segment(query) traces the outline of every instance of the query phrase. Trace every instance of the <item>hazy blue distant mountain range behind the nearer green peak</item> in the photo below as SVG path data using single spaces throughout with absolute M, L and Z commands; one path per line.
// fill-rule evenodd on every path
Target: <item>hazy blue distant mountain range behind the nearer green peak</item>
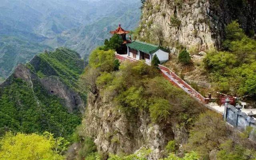
M 0 81 L 18 63 L 59 46 L 87 57 L 122 24 L 138 26 L 140 0 L 1 0 Z

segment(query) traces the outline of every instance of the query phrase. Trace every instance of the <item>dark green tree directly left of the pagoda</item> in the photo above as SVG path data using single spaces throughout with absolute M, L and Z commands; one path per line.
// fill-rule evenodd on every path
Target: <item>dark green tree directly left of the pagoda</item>
M 114 34 L 109 40 L 105 40 L 104 50 L 120 50 L 124 40 L 118 35 Z

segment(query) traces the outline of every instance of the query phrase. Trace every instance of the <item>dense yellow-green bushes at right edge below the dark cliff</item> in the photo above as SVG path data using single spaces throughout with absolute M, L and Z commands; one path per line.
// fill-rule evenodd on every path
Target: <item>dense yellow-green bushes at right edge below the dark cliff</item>
M 248 38 L 238 22 L 226 27 L 223 52 L 208 52 L 204 64 L 216 90 L 244 96 L 256 94 L 256 41 Z

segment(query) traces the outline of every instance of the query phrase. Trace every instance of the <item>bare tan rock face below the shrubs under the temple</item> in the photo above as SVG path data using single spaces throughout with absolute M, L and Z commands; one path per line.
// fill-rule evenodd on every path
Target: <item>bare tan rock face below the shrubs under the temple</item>
M 114 104 L 93 95 L 88 97 L 83 123 L 86 134 L 95 138 L 98 151 L 105 154 L 132 154 L 144 147 L 152 150 L 149 160 L 158 160 L 168 141 L 175 139 L 184 144 L 188 138 L 186 130 L 176 128 L 172 122 L 163 126 L 152 124 L 146 112 L 125 115 Z

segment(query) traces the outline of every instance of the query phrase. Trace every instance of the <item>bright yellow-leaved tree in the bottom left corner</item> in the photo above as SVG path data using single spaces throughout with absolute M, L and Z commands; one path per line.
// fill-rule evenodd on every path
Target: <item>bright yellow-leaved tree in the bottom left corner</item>
M 0 160 L 64 160 L 51 134 L 6 133 L 0 139 Z

